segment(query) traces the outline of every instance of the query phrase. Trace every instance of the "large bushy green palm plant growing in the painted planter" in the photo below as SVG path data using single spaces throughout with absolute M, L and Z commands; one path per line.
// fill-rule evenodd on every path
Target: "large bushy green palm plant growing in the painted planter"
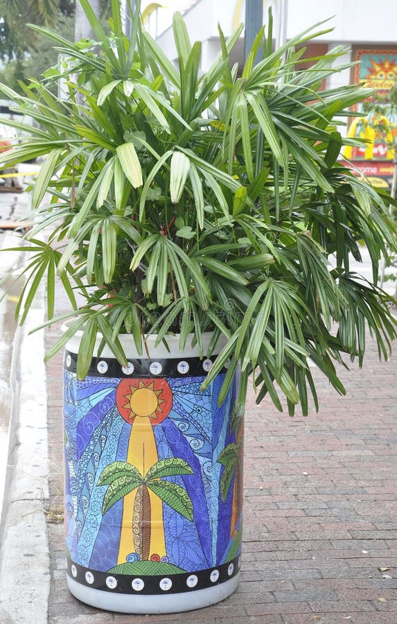
M 228 39 L 220 31 L 220 53 L 200 75 L 200 42 L 191 44 L 179 14 L 175 69 L 141 28 L 139 1 L 129 40 L 117 0 L 112 37 L 81 3 L 99 45 L 82 49 L 36 27 L 69 57 L 67 98 L 48 92 L 56 71 L 24 96 L 1 86 L 39 123 L 3 163 L 46 156 L 24 245 L 20 322 L 41 281 L 53 322 L 58 275 L 73 309 L 48 356 L 82 329 L 80 379 L 97 332 L 124 363 L 120 333 L 132 333 L 139 352 L 148 334 L 161 343 L 179 333 L 184 347 L 193 333 L 203 354 L 202 332 L 211 331 L 209 352 L 220 335 L 225 346 L 204 385 L 229 361 L 220 401 L 240 365 L 240 408 L 254 374 L 258 402 L 270 395 L 281 409 L 281 392 L 291 414 L 299 402 L 306 414 L 310 392 L 317 407 L 308 359 L 343 393 L 335 361 L 346 354 L 361 365 L 366 327 L 384 358 L 396 336 L 391 301 L 375 284 L 380 256 L 389 262 L 397 240 L 389 198 L 337 162 L 351 141 L 337 124 L 369 95 L 353 85 L 321 90 L 348 67 L 333 69 L 343 47 L 297 70 L 304 43 L 325 31 L 317 25 L 272 51 L 270 22 L 239 75 L 230 55 L 240 26 Z M 349 266 L 362 243 L 373 284 Z

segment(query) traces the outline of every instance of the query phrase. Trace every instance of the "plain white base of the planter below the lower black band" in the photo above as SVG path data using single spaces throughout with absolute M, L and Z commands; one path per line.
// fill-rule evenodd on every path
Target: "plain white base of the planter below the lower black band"
M 224 600 L 236 590 L 240 573 L 230 580 L 208 587 L 197 589 L 186 593 L 164 596 L 164 594 L 154 594 L 152 596 L 131 596 L 127 593 L 112 594 L 100 589 L 85 587 L 67 575 L 69 591 L 87 605 L 114 611 L 118 613 L 131 614 L 161 614 L 179 613 L 193 611 L 209 607 Z M 158 598 L 158 599 L 157 599 Z

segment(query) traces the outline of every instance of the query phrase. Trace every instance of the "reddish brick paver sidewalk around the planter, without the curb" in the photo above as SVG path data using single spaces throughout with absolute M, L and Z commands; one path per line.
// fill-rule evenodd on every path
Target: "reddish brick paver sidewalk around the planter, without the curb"
M 46 332 L 46 349 L 58 335 Z M 397 345 L 395 347 L 397 349 Z M 62 504 L 61 356 L 48 363 L 51 624 L 396 624 L 397 352 L 342 372 L 339 397 L 314 370 L 320 411 L 279 414 L 249 394 L 242 577 L 213 607 L 181 615 L 112 614 L 67 590 Z

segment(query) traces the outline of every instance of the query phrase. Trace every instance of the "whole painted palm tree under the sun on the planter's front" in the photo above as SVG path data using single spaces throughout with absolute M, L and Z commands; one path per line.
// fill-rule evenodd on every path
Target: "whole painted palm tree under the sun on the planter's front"
M 129 543 L 131 544 L 133 539 L 134 550 L 140 555 L 141 560 L 148 560 L 150 555 L 152 532 L 150 492 L 188 520 L 193 520 L 193 504 L 186 490 L 177 483 L 164 480 L 165 477 L 182 474 L 193 474 L 193 470 L 181 458 L 160 460 L 150 467 L 145 476 L 129 462 L 122 461 L 112 462 L 100 474 L 98 485 L 109 486 L 103 499 L 103 514 L 114 503 L 136 490 Z

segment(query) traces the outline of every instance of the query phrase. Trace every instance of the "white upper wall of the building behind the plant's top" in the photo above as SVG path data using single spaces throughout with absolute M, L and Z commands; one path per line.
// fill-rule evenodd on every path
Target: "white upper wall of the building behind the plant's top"
M 192 1 L 192 0 L 191 0 Z M 267 8 L 274 7 L 276 22 L 279 3 L 288 2 L 287 37 L 291 39 L 318 21 L 329 21 L 319 26 L 321 31 L 333 27 L 334 30 L 321 35 L 317 40 L 339 42 L 344 45 L 354 44 L 385 44 L 397 48 L 397 0 L 265 0 L 263 21 L 267 22 Z M 189 2 L 185 2 L 189 4 Z M 190 2 L 191 4 L 191 2 Z M 183 0 L 175 3 L 170 1 L 169 9 L 160 9 L 162 23 L 170 24 L 173 8 L 182 8 Z M 167 15 L 166 15 L 167 12 Z M 218 39 L 218 23 L 225 36 L 231 35 L 233 29 L 245 18 L 244 0 L 197 0 L 184 13 L 184 20 L 192 42 L 203 42 L 202 70 L 207 69 L 220 46 Z M 167 21 L 164 21 L 168 19 Z M 160 23 L 160 18 L 158 23 Z M 274 33 L 276 32 L 276 24 Z M 153 34 L 153 33 L 152 33 Z M 242 37 L 241 37 L 242 39 Z M 175 59 L 172 28 L 168 28 L 158 37 L 158 42 L 169 58 Z M 242 44 L 238 46 L 242 50 Z M 242 54 L 241 54 L 242 55 Z M 242 59 L 241 59 L 242 60 Z M 340 78 L 341 75 L 339 75 Z M 335 80 L 338 80 L 335 76 Z M 334 78 L 331 80 L 333 83 Z M 349 76 L 343 76 L 349 83 Z

